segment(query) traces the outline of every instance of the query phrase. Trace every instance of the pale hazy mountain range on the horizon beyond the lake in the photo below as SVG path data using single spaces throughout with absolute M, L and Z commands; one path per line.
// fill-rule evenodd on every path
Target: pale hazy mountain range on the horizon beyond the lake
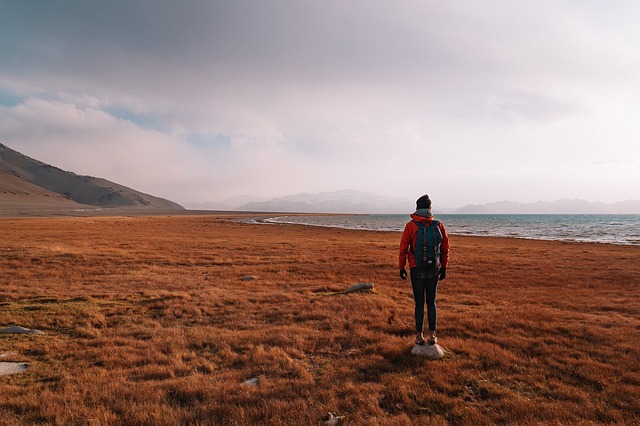
M 411 212 L 414 207 L 414 200 L 343 190 L 318 194 L 302 193 L 271 200 L 252 201 L 242 204 L 236 209 L 263 212 L 406 214 Z M 232 208 L 232 206 L 227 204 L 227 208 Z M 499 201 L 488 204 L 469 204 L 457 209 L 436 208 L 434 213 L 640 214 L 640 200 L 627 200 L 613 204 L 569 199 L 535 203 Z

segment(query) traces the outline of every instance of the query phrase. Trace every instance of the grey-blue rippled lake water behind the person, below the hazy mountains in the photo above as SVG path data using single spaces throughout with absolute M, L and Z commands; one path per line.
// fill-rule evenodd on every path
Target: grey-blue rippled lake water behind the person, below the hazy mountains
M 451 235 L 640 245 L 640 215 L 436 215 Z M 402 231 L 408 215 L 271 216 L 267 223 Z

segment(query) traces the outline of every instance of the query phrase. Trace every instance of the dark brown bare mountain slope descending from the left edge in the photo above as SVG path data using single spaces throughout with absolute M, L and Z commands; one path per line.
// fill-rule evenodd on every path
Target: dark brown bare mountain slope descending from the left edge
M 0 144 L 0 209 L 125 208 L 183 210 L 154 197 L 92 176 L 80 176 Z

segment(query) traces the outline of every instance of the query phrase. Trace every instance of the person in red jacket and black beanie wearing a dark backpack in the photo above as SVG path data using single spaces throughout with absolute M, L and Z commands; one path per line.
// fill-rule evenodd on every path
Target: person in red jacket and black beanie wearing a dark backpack
M 405 266 L 409 263 L 411 287 L 415 302 L 416 344 L 423 345 L 424 305 L 427 304 L 427 322 L 429 326 L 428 344 L 438 341 L 436 293 L 438 281 L 447 276 L 449 263 L 449 237 L 444 225 L 434 219 L 431 213 L 431 200 L 423 195 L 416 201 L 416 211 L 411 214 L 400 239 L 398 266 L 400 278 L 407 279 Z M 426 296 L 426 297 L 425 297 Z

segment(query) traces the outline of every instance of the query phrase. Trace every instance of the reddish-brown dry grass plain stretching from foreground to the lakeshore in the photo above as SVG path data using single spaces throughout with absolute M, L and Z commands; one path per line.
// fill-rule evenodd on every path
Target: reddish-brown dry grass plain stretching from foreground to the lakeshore
M 451 237 L 441 361 L 399 234 L 215 216 L 0 219 L 0 423 L 640 422 L 640 248 Z M 245 275 L 254 281 L 240 281 Z M 326 296 L 371 281 L 373 293 Z M 258 377 L 258 386 L 243 385 Z

